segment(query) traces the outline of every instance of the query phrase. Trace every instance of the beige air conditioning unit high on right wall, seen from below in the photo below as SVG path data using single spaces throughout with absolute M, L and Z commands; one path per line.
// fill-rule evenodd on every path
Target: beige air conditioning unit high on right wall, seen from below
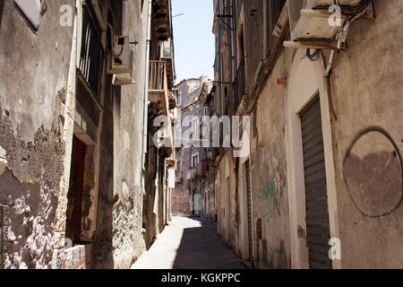
M 338 0 L 342 7 L 356 7 L 362 0 Z M 334 0 L 288 0 L 288 16 L 291 39 L 298 40 L 331 40 L 334 39 L 340 26 L 330 25 L 331 13 L 328 12 Z M 314 9 L 322 8 L 322 9 Z M 328 13 L 328 15 L 326 14 Z M 341 25 L 346 19 L 341 18 Z

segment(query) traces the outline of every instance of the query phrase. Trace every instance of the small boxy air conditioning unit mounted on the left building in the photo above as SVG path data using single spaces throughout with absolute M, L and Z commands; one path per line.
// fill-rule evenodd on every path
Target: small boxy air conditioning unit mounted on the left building
M 129 37 L 116 36 L 108 74 L 132 74 L 133 49 Z

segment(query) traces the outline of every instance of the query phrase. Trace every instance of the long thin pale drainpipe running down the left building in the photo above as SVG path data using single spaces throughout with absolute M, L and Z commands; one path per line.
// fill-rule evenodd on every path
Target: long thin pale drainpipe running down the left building
M 151 42 L 151 14 L 152 0 L 149 0 L 148 23 L 147 23 L 147 43 L 146 43 L 146 69 L 145 69 L 145 85 L 144 85 L 144 126 L 142 133 L 142 168 L 145 170 L 145 156 L 148 152 L 147 136 L 149 126 L 149 77 L 150 77 L 150 42 Z

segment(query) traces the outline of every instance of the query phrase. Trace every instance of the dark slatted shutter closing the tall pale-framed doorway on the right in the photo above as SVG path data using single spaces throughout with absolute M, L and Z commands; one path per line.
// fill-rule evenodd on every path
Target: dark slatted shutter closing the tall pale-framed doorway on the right
M 330 222 L 319 95 L 300 114 L 306 199 L 306 230 L 311 268 L 331 268 Z

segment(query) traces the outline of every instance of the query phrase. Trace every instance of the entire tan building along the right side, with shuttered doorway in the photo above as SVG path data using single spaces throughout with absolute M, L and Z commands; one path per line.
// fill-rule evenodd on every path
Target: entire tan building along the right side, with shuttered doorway
M 214 1 L 216 115 L 250 117 L 219 233 L 259 268 L 402 267 L 403 4 L 339 3 Z

